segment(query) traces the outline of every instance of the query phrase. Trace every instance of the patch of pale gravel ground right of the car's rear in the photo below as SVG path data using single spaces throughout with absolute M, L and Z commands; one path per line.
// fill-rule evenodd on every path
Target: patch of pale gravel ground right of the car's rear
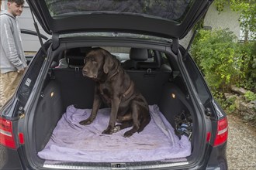
M 235 115 L 228 115 L 229 136 L 227 162 L 229 169 L 256 169 L 256 129 Z

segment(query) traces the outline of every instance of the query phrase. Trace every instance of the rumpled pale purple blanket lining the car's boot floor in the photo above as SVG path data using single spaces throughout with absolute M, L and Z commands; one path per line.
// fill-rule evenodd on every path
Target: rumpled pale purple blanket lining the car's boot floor
M 82 126 L 79 121 L 86 119 L 91 109 L 67 107 L 50 141 L 38 153 L 39 157 L 64 162 L 143 162 L 191 154 L 189 139 L 185 136 L 178 139 L 157 105 L 150 106 L 150 124 L 130 138 L 123 137 L 129 128 L 115 134 L 102 134 L 108 126 L 109 113 L 109 108 L 100 109 L 92 124 Z

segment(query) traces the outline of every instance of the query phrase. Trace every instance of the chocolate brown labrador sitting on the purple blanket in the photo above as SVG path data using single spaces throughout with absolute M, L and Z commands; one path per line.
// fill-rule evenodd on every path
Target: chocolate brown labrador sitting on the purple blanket
M 96 85 L 92 113 L 80 124 L 91 124 L 104 102 L 111 107 L 111 113 L 109 126 L 102 134 L 112 134 L 131 126 L 133 128 L 126 131 L 124 137 L 143 131 L 151 119 L 147 101 L 135 89 L 133 80 L 120 66 L 119 60 L 102 48 L 93 48 L 85 60 L 82 74 L 95 80 Z

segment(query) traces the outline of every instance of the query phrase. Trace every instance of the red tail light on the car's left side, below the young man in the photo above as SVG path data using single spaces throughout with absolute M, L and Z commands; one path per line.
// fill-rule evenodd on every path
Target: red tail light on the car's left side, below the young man
M 12 133 L 12 121 L 0 117 L 0 144 L 16 148 L 16 142 Z

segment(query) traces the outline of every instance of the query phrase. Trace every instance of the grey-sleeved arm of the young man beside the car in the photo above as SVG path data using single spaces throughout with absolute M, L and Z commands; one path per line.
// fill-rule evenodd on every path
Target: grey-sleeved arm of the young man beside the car
M 12 23 L 9 19 L 2 17 L 1 19 L 1 43 L 5 50 L 5 55 L 10 63 L 16 67 L 17 70 L 24 70 L 21 59 L 19 59 L 14 38 L 12 35 Z

